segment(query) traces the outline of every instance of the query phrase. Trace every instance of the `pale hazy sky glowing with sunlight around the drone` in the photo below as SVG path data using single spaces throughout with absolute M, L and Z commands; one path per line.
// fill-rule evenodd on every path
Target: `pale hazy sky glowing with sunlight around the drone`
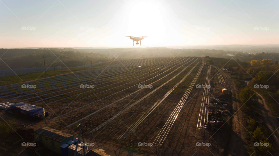
M 279 44 L 278 6 L 278 0 L 0 0 L 0 47 L 130 47 L 131 35 L 148 36 L 142 40 L 148 47 Z

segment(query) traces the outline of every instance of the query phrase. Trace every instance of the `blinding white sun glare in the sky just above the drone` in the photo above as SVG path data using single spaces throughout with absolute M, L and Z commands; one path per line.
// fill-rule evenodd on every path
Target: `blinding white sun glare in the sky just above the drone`
M 141 1 L 130 4 L 127 10 L 126 34 L 148 36 L 149 43 L 156 43 L 156 39 L 165 36 L 166 22 L 164 7 L 161 3 Z

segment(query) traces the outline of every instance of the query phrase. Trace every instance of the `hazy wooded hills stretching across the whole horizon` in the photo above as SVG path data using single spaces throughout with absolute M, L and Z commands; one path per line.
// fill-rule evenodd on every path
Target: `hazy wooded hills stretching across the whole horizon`
M 46 65 L 51 65 L 51 67 L 76 67 L 90 64 L 90 57 L 92 57 L 92 63 L 109 61 L 112 60 L 112 58 L 122 60 L 163 56 L 210 56 L 247 62 L 251 60 L 262 60 L 263 58 L 271 58 L 273 61 L 279 60 L 279 53 L 267 53 L 259 49 L 257 49 L 257 52 L 259 53 L 249 54 L 242 51 L 225 51 L 223 49 L 178 49 L 165 47 L 110 49 L 39 48 L 0 49 L 0 56 L 4 54 L 1 59 L 12 69 L 44 67 L 43 56 L 45 57 Z M 56 56 L 59 56 L 59 59 Z M 231 58 L 232 56 L 233 58 Z M 0 61 L 0 69 L 9 69 L 5 63 Z

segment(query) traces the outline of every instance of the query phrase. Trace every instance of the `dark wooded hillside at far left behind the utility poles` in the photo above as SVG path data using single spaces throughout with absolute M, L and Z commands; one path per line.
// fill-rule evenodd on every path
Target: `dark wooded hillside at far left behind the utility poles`
M 46 65 L 51 67 L 76 67 L 90 64 L 90 56 L 92 63 L 109 60 L 104 54 L 78 52 L 76 49 L 0 49 L 0 56 L 5 62 L 0 61 L 0 69 L 44 67 L 43 56 Z

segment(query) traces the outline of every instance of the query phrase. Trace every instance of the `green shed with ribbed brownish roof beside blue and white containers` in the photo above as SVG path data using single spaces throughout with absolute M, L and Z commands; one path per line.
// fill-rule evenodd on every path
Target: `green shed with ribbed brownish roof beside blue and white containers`
M 50 127 L 40 128 L 34 132 L 35 141 L 41 142 L 51 151 L 61 153 L 61 145 L 74 139 L 74 135 Z

